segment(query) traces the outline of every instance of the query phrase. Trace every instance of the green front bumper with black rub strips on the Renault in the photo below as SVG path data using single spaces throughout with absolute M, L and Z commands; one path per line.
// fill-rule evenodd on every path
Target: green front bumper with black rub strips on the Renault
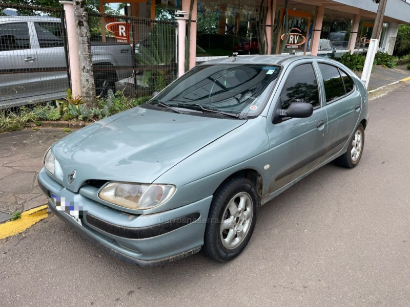
M 66 189 L 44 169 L 38 174 L 38 183 L 49 197 L 49 208 L 61 220 L 108 254 L 131 264 L 166 264 L 198 252 L 203 245 L 212 196 L 169 211 L 132 215 Z M 83 226 L 56 209 L 50 192 L 82 208 Z

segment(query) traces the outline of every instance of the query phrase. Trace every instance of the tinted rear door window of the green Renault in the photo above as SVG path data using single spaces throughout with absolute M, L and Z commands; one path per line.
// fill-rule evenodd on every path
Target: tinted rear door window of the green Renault
M 344 91 L 343 81 L 337 67 L 319 63 L 319 69 L 322 73 L 326 103 L 346 94 Z

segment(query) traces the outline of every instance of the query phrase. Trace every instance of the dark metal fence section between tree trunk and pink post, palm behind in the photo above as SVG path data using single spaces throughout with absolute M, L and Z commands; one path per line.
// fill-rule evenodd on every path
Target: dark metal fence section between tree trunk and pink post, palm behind
M 89 13 L 97 95 L 150 96 L 177 76 L 177 24 Z

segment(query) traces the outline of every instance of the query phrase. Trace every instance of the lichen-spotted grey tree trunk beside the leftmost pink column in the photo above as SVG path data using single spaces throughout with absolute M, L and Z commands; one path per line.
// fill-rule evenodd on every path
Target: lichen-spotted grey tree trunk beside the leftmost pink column
M 77 25 L 78 52 L 81 72 L 81 92 L 88 108 L 97 106 L 93 64 L 91 60 L 90 29 L 88 27 L 87 3 L 85 0 L 74 0 L 74 19 Z

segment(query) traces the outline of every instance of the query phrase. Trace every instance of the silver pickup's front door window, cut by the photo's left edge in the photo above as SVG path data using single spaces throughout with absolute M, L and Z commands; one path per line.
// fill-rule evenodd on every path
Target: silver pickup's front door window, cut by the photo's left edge
M 30 49 L 27 23 L 0 25 L 0 51 Z

